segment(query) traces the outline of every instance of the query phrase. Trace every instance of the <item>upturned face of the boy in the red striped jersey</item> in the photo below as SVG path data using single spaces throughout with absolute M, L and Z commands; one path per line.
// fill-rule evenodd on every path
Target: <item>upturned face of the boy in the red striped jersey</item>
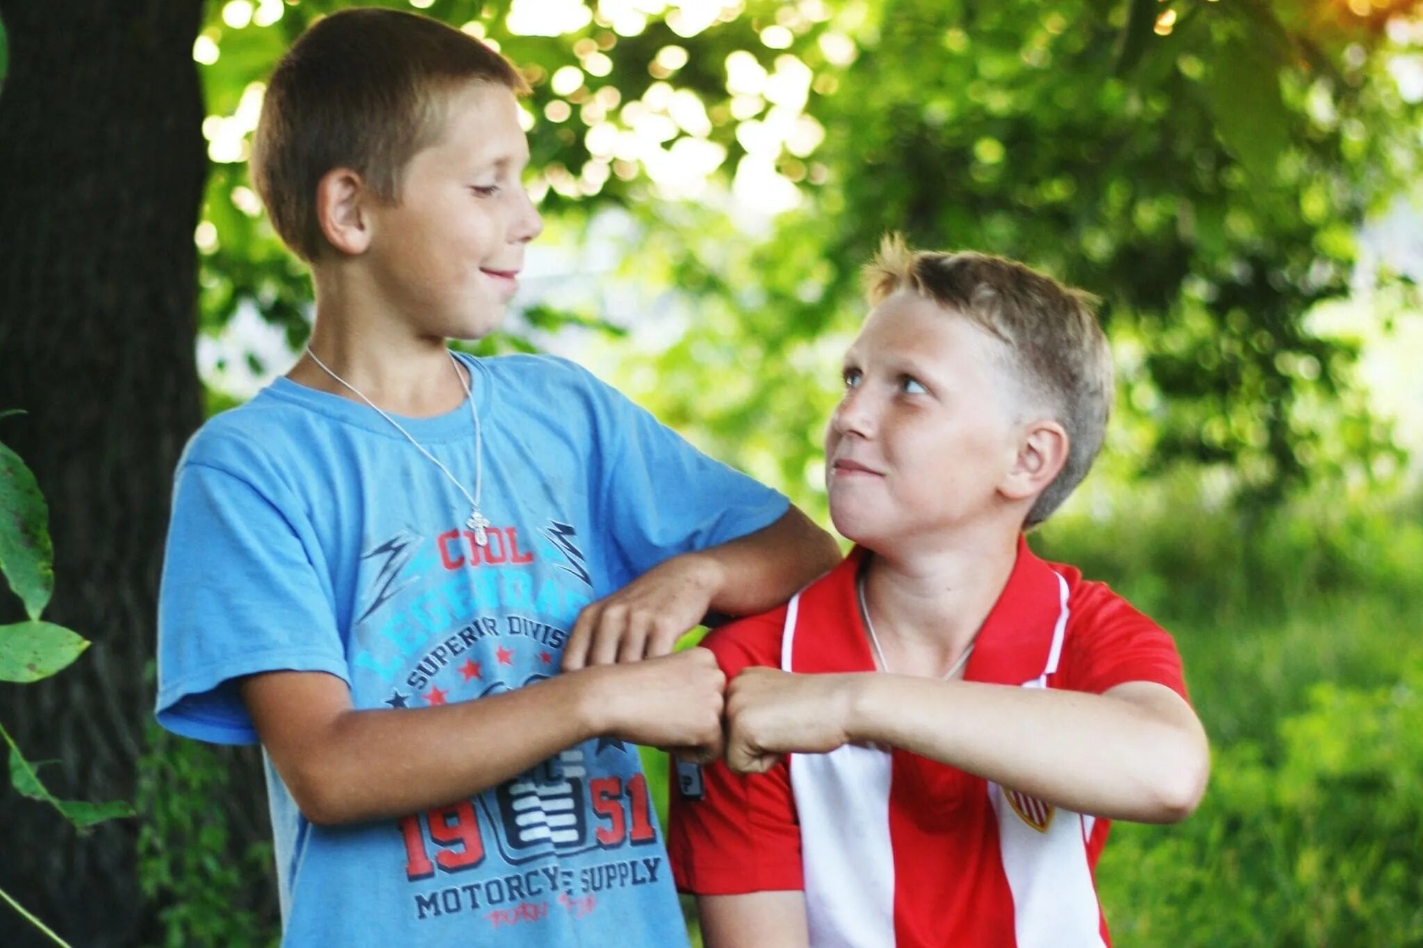
M 1009 358 L 1002 341 L 914 293 L 875 307 L 845 354 L 845 394 L 825 432 L 841 534 L 881 553 L 938 546 L 1012 502 L 1002 488 L 1023 425 Z

